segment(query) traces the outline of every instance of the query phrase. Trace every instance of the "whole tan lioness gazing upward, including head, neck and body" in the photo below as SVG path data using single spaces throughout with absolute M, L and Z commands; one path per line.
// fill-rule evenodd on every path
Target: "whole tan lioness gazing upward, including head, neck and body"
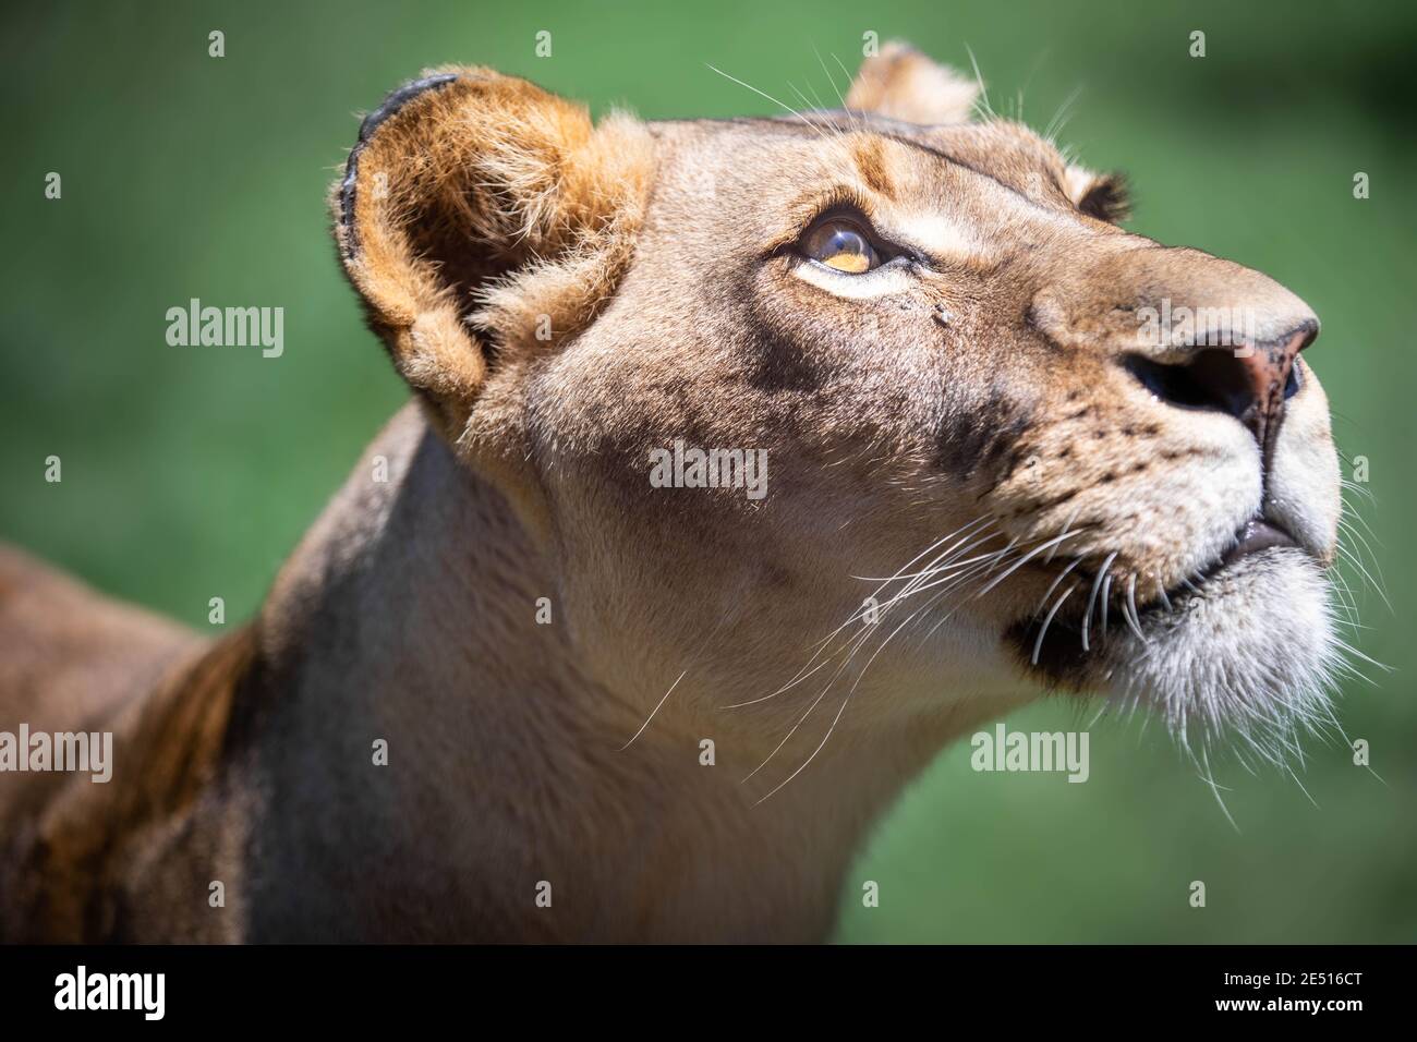
M 0 557 L 0 727 L 115 734 L 108 784 L 0 775 L 3 936 L 820 940 L 903 784 L 1040 690 L 1288 741 L 1336 646 L 1318 322 L 973 102 L 903 45 L 782 118 L 393 94 L 334 235 L 414 403 L 256 618 Z

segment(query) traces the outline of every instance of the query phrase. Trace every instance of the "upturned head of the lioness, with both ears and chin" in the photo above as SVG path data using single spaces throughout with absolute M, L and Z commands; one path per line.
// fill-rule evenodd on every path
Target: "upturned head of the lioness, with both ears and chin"
M 1182 733 L 1309 719 L 1339 517 L 1318 320 L 1125 231 L 1118 179 L 973 95 L 890 47 L 842 111 L 595 126 L 434 72 L 364 122 L 341 258 L 646 716 L 673 689 L 808 751 L 1046 688 Z

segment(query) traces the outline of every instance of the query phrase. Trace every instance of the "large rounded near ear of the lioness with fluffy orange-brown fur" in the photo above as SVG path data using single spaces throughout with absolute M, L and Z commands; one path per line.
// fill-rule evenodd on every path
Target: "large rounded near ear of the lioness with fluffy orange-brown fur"
M 334 237 L 394 366 L 456 437 L 489 376 L 582 329 L 633 252 L 643 125 L 482 68 L 438 69 L 364 119 Z

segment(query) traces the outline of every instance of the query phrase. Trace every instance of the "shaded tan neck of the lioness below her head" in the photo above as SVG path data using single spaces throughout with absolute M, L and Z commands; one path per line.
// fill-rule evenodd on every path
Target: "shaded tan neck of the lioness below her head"
M 370 476 L 380 456 L 387 483 Z M 706 732 L 673 706 L 640 730 L 653 706 L 594 679 L 565 627 L 536 624 L 555 590 L 506 502 L 401 413 L 262 612 L 278 693 L 261 770 L 293 794 L 266 811 L 268 846 L 285 829 L 292 873 L 315 859 L 339 902 L 398 909 L 385 937 L 823 939 L 843 887 L 860 893 L 846 872 L 866 829 L 948 729 L 829 744 L 757 802 L 741 778 L 761 740 L 717 722 L 706 766 Z M 350 873 L 351 853 L 381 870 Z M 351 930 L 320 897 L 302 914 Z

